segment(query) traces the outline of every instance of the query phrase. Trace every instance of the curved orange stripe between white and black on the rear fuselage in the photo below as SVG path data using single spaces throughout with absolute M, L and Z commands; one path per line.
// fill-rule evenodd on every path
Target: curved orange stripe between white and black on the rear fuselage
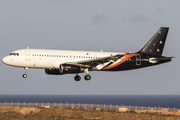
M 102 69 L 102 70 L 108 70 L 108 69 L 114 68 L 114 67 L 116 67 L 116 66 L 124 63 L 127 59 L 129 59 L 129 58 L 131 58 L 131 57 L 134 57 L 134 56 L 136 56 L 136 55 L 140 55 L 140 54 L 141 54 L 141 53 L 135 53 L 135 54 L 131 54 L 131 55 L 128 55 L 128 56 L 127 56 L 127 53 L 124 53 L 125 58 L 124 58 L 123 60 L 121 60 L 120 62 L 114 64 L 113 66 L 104 68 L 104 69 Z

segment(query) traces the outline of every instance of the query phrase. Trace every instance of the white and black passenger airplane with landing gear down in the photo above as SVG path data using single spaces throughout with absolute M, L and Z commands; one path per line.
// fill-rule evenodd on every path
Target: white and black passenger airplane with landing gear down
M 162 56 L 169 27 L 161 27 L 135 53 L 93 52 L 49 49 L 20 49 L 11 52 L 2 59 L 6 65 L 24 68 L 27 77 L 28 68 L 45 69 L 48 75 L 76 74 L 75 81 L 80 81 L 79 73 L 85 72 L 85 80 L 90 80 L 89 71 L 124 71 L 139 69 L 170 62 L 174 57 Z

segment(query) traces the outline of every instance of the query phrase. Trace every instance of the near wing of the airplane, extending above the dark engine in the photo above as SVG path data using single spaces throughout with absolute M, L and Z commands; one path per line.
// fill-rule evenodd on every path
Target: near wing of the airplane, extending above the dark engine
M 86 68 L 93 68 L 99 64 L 103 64 L 106 62 L 114 62 L 122 56 L 124 56 L 124 54 L 117 54 L 117 55 L 112 55 L 112 56 L 98 58 L 98 59 L 91 59 L 91 60 L 84 60 L 84 61 L 77 61 L 77 62 L 68 62 L 67 64 L 73 64 L 73 65 L 86 67 Z

